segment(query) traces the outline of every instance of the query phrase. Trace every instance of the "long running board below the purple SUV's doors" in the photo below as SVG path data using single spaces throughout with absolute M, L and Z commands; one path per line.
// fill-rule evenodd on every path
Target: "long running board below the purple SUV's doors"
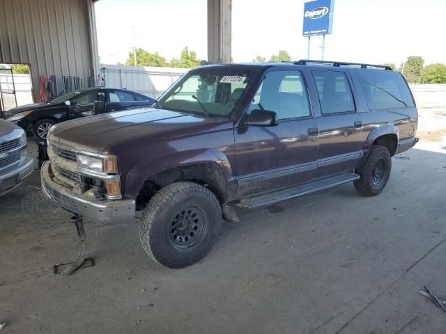
M 253 197 L 245 198 L 241 200 L 237 206 L 247 209 L 254 207 L 262 207 L 264 205 L 270 205 L 282 200 L 289 200 L 290 198 L 306 195 L 307 193 L 314 193 L 323 189 L 331 188 L 332 186 L 338 186 L 347 182 L 352 182 L 360 178 L 360 175 L 355 173 L 338 174 L 331 177 L 325 177 L 321 180 L 300 184 L 299 186 L 293 186 L 293 188 L 287 188 L 272 193 L 263 193 Z

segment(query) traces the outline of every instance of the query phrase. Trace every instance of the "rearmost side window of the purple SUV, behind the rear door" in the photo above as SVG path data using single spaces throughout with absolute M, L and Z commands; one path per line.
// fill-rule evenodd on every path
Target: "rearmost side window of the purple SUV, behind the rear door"
M 401 74 L 388 70 L 357 70 L 369 109 L 414 106 L 412 95 Z

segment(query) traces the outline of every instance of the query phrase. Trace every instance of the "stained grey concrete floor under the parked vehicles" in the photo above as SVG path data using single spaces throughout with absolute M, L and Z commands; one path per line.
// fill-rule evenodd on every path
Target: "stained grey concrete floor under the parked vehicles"
M 86 222 L 95 267 L 54 275 L 77 236 L 36 171 L 0 200 L 1 333 L 444 333 L 418 290 L 446 299 L 445 110 L 420 111 L 380 196 L 346 184 L 241 212 L 180 270 L 150 267 L 137 223 Z

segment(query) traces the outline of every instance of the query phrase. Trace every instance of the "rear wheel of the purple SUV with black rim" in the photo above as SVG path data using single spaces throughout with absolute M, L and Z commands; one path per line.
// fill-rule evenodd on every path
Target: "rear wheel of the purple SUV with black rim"
M 362 196 L 376 196 L 383 191 L 392 170 L 392 157 L 385 146 L 372 145 L 364 166 L 356 171 L 359 180 L 353 182 Z

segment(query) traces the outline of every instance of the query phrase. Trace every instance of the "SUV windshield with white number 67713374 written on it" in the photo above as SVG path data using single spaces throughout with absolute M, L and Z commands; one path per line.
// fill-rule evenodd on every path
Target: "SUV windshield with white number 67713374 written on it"
M 204 67 L 187 74 L 169 88 L 157 106 L 210 117 L 229 117 L 254 74 L 253 70 L 229 66 Z

